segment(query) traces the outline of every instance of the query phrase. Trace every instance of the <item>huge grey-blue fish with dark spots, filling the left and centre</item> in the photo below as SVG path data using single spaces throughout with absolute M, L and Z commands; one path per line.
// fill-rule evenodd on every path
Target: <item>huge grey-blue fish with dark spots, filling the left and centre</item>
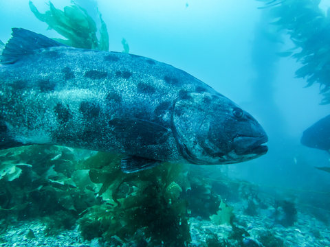
M 252 115 L 151 58 L 13 28 L 1 64 L 0 150 L 54 144 L 115 152 L 125 173 L 162 162 L 239 163 L 268 150 Z

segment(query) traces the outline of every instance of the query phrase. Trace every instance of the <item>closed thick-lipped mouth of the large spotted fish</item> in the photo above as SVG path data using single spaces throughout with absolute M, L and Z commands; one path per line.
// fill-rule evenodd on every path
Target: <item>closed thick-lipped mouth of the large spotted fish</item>
M 236 154 L 257 154 L 263 155 L 267 153 L 268 147 L 265 145 L 267 143 L 267 135 L 262 137 L 245 137 L 239 136 L 235 137 L 233 140 L 233 148 Z

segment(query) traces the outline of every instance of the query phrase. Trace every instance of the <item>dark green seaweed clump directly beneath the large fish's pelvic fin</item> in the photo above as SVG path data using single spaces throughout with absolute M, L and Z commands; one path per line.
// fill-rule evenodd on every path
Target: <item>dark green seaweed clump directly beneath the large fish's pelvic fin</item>
M 91 180 L 100 183 L 103 203 L 90 207 L 79 220 L 85 239 L 114 235 L 122 241 L 140 229 L 148 246 L 184 246 L 190 242 L 184 166 L 164 163 L 151 170 L 124 174 L 120 155 L 98 152 L 82 167 L 90 167 Z M 93 230 L 94 229 L 94 230 Z

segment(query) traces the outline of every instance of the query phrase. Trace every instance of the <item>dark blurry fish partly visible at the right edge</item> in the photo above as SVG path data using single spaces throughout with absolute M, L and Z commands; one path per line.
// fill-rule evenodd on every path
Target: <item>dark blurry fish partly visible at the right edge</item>
M 330 115 L 317 121 L 303 132 L 300 143 L 330 152 Z

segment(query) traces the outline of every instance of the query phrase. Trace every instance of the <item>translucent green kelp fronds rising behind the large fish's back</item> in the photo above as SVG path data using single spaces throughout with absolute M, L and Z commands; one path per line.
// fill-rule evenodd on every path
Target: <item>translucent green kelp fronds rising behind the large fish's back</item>
M 109 51 L 109 35 L 107 25 L 100 17 L 100 40 L 97 38 L 97 27 L 95 21 L 89 16 L 87 11 L 74 4 L 66 6 L 64 11 L 58 10 L 50 2 L 50 10 L 41 14 L 36 6 L 29 2 L 30 9 L 40 21 L 49 25 L 49 28 L 64 36 L 65 39 L 56 38 L 56 40 L 65 45 L 84 49 L 98 49 Z

